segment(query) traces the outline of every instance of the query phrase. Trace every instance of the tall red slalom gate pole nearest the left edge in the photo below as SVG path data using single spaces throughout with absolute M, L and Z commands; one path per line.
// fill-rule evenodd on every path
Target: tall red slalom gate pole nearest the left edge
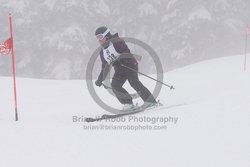
M 16 70 L 15 70 L 15 56 L 14 56 L 14 40 L 13 40 L 13 31 L 12 31 L 12 16 L 9 14 L 10 22 L 10 37 L 12 41 L 12 73 L 13 73 L 13 83 L 14 83 L 14 102 L 15 102 L 15 121 L 18 121 L 18 112 L 17 112 L 17 93 L 16 93 Z

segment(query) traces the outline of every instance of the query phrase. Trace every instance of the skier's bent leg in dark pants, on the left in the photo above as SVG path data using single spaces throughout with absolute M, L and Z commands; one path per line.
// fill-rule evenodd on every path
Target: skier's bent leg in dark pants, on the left
M 120 101 L 120 103 L 133 104 L 132 97 L 122 87 L 123 84 L 126 82 L 126 80 L 127 80 L 126 73 L 115 72 L 112 78 L 111 87 L 117 99 Z

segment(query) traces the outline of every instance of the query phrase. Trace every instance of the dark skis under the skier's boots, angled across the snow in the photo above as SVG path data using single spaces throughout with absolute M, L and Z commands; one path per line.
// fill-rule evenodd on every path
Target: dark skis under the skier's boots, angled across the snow
M 85 118 L 85 122 L 97 122 L 97 121 L 102 121 L 102 120 L 106 120 L 106 119 L 115 119 L 115 118 L 119 118 L 119 117 L 123 117 L 123 116 L 128 116 L 128 115 L 133 115 L 133 114 L 137 114 L 137 113 L 141 113 L 145 110 L 152 110 L 152 109 L 155 109 L 155 108 L 158 108 L 160 106 L 163 106 L 162 103 L 160 103 L 160 101 L 158 100 L 157 104 L 154 105 L 154 106 L 151 106 L 151 107 L 137 107 L 131 111 L 128 111 L 126 113 L 122 113 L 122 114 L 104 114 L 102 115 L 101 117 L 97 117 L 97 118 L 91 118 L 91 117 L 88 117 L 88 118 Z

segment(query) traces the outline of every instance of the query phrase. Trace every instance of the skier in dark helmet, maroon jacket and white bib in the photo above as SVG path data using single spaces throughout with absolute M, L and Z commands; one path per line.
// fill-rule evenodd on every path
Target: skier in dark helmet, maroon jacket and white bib
M 115 73 L 112 78 L 111 87 L 117 99 L 124 105 L 124 111 L 135 109 L 132 97 L 122 87 L 126 80 L 137 91 L 146 106 L 151 107 L 156 105 L 157 102 L 151 92 L 139 81 L 138 73 L 129 69 L 132 68 L 138 71 L 138 62 L 130 53 L 125 41 L 119 38 L 118 33 L 111 35 L 109 28 L 102 26 L 96 29 L 95 36 L 102 46 L 100 52 L 102 70 L 95 81 L 96 86 L 102 86 L 102 81 L 105 80 L 108 73 L 105 67 L 106 65 L 108 67 L 112 65 Z M 111 41 L 111 39 L 115 39 L 115 42 L 112 42 L 113 40 Z M 122 57 L 122 55 L 126 56 Z

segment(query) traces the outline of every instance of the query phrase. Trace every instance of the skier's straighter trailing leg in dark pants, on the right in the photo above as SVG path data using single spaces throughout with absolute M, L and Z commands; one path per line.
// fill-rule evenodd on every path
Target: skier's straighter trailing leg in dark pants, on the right
M 138 65 L 136 65 L 134 69 L 138 71 Z M 140 95 L 144 102 L 156 102 L 151 92 L 139 80 L 138 73 L 130 71 L 127 73 L 127 78 L 129 84 L 137 91 L 137 93 Z

